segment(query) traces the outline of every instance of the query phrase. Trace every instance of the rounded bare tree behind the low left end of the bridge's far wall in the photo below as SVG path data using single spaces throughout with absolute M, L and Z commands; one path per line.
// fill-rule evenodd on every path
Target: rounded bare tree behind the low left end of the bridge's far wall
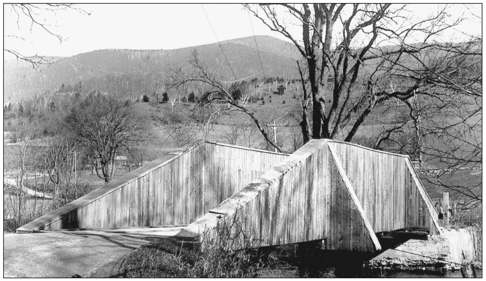
M 145 123 L 146 120 L 137 116 L 130 106 L 103 95 L 87 99 L 79 110 L 72 109 L 67 117 L 67 126 L 86 149 L 96 174 L 105 183 L 113 179 L 117 153 L 147 140 Z M 95 163 L 97 159 L 101 173 Z

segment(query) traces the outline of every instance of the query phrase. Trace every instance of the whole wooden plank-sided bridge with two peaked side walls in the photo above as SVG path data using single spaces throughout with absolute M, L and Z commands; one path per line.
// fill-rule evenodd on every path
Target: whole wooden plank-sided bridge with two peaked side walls
M 17 232 L 117 231 L 197 240 L 238 220 L 260 246 L 320 240 L 376 251 L 377 233 L 440 234 L 408 156 L 311 140 L 291 155 L 204 141 L 156 159 Z M 148 235 L 148 234 L 147 234 Z

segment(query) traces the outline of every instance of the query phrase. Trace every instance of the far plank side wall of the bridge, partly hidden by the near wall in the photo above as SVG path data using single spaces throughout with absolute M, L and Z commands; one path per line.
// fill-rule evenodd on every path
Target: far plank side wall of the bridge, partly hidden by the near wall
M 200 142 L 164 155 L 17 232 L 189 224 L 287 156 Z

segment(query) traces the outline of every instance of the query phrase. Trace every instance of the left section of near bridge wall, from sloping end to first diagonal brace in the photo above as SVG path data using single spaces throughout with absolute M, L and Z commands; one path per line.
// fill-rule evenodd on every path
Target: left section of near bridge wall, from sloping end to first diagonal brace
M 327 238 L 328 249 L 380 249 L 343 173 L 326 142 L 311 140 L 176 236 L 198 236 L 224 218 L 227 225 L 237 221 L 242 235 L 261 241 L 262 246 Z

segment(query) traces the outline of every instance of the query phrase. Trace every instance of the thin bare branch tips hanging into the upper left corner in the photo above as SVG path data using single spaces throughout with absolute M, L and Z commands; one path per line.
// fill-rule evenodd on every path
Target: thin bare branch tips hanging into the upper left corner
M 20 24 L 23 21 L 27 21 L 30 25 L 30 29 L 40 28 L 41 31 L 56 37 L 59 42 L 64 41 L 64 38 L 54 31 L 55 27 L 50 23 L 47 18 L 56 17 L 58 13 L 66 13 L 67 11 L 77 11 L 82 14 L 90 15 L 87 11 L 75 7 L 73 4 L 3 4 L 5 12 L 10 12 L 16 15 L 16 21 L 7 24 L 14 26 L 17 24 L 17 28 L 20 29 Z M 15 16 L 14 16 L 15 17 Z M 25 54 L 18 50 L 15 50 L 12 45 L 18 42 L 23 42 L 26 38 L 18 33 L 4 33 L 3 35 L 4 47 L 3 51 L 13 54 L 17 59 L 26 61 L 36 68 L 38 65 L 49 64 L 50 60 L 38 54 Z

